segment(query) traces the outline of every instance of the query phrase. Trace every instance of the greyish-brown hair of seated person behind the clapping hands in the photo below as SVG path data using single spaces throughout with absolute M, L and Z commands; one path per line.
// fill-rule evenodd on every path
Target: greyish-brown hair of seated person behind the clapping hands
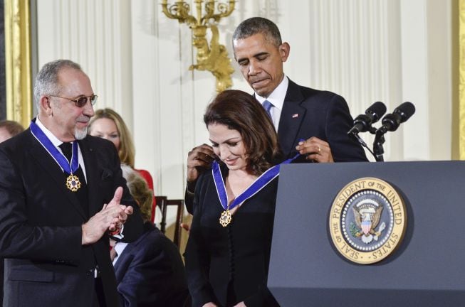
M 130 166 L 121 165 L 122 176 L 126 179 L 127 188 L 140 208 L 144 222 L 152 220 L 153 193 L 142 176 Z

